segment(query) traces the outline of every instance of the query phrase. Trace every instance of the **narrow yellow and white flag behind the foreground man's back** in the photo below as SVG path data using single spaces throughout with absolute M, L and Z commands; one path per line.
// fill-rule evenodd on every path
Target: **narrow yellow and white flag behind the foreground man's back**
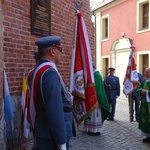
M 23 111 L 23 136 L 25 138 L 28 138 L 29 132 L 30 132 L 30 127 L 29 127 L 29 122 L 27 121 L 27 109 L 28 107 L 26 104 L 26 94 L 27 94 L 27 83 L 26 83 L 26 78 L 25 75 L 23 76 L 22 79 L 22 96 L 21 96 L 21 104 L 22 104 L 22 111 Z

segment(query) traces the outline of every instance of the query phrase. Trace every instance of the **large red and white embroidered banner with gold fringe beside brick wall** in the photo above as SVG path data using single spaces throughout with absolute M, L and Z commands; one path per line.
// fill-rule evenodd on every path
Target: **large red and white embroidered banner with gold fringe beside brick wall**
M 79 125 L 98 106 L 89 38 L 84 19 L 79 11 L 77 11 L 75 34 L 70 91 L 74 96 L 73 115 Z

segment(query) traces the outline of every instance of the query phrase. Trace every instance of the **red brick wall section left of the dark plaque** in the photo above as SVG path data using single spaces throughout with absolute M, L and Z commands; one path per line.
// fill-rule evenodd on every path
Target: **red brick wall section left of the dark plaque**
M 11 95 L 21 94 L 23 73 L 33 67 L 35 36 L 30 33 L 30 1 L 4 0 L 4 69 Z

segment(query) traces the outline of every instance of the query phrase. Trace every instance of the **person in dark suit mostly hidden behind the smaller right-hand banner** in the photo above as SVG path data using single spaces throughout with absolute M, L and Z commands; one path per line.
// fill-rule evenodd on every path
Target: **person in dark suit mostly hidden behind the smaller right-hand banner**
M 138 73 L 138 78 L 139 78 L 139 84 L 142 83 L 143 81 L 143 77 L 142 77 L 142 74 Z M 130 114 L 130 117 L 131 117 L 131 122 L 134 120 L 134 114 L 135 114 L 135 119 L 136 121 L 138 122 L 139 121 L 139 96 L 138 96 L 138 93 L 137 93 L 137 88 L 131 93 L 128 95 L 128 101 L 129 101 L 129 107 L 130 110 L 131 110 L 131 114 Z M 135 108 L 135 109 L 134 109 Z

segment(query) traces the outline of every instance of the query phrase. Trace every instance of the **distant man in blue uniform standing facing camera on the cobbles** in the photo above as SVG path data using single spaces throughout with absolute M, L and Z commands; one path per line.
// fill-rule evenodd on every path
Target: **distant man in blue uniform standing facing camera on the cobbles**
M 115 109 L 116 109 L 116 99 L 120 96 L 120 83 L 119 78 L 114 76 L 115 68 L 109 68 L 109 75 L 104 78 L 104 85 L 106 90 L 106 95 L 111 107 L 111 113 L 107 120 L 114 121 Z

